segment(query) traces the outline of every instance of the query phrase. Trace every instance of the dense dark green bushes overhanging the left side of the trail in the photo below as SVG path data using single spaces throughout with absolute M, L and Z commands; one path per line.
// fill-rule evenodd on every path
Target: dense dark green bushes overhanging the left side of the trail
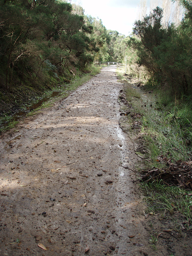
M 83 16 L 56 0 L 0 0 L 0 87 L 44 84 L 93 61 Z

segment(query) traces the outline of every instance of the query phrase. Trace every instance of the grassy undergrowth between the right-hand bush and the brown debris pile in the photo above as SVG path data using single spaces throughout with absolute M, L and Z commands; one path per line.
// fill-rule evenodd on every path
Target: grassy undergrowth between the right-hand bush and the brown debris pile
M 143 114 L 141 132 L 150 149 L 151 166 L 156 164 L 158 156 L 173 160 L 190 160 L 192 156 L 190 104 L 179 102 L 174 106 L 172 103 L 164 106 L 159 102 L 157 94 L 142 90 L 140 99 L 131 100 L 136 112 Z

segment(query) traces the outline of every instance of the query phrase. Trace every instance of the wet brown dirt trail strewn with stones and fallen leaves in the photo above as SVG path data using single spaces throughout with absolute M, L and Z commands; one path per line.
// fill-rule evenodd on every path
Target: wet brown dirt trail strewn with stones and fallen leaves
M 121 89 L 115 68 L 104 68 L 1 137 L 0 255 L 166 255 L 142 225 Z

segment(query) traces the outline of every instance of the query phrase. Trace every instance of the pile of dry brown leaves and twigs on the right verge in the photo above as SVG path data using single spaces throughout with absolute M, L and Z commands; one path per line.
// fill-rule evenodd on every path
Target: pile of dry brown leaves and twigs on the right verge
M 192 162 L 177 161 L 172 163 L 171 159 L 158 158 L 158 162 L 166 162 L 165 168 L 153 168 L 143 171 L 141 178 L 144 182 L 162 180 L 168 186 L 178 186 L 186 190 L 192 190 Z

